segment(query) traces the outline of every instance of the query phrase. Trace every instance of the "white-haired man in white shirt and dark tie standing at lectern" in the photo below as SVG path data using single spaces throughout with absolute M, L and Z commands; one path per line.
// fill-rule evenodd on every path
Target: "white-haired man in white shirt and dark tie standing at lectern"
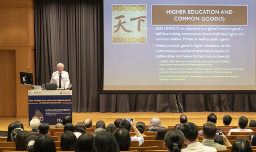
M 70 76 L 68 75 L 68 72 L 63 71 L 64 64 L 57 64 L 57 69 L 58 71 L 52 73 L 50 83 L 56 83 L 59 89 L 67 89 L 70 85 Z

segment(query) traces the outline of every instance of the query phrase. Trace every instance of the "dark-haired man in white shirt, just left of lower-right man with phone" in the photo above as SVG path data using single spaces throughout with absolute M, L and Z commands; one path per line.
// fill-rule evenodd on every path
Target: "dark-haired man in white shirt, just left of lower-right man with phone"
M 186 124 L 182 125 L 181 127 L 181 132 L 184 133 L 185 136 L 185 143 L 186 145 L 188 145 L 188 147 L 186 149 L 182 149 L 182 152 L 186 152 L 186 151 L 217 151 L 215 148 L 213 147 L 208 147 L 208 146 L 204 146 L 202 145 L 202 143 L 200 143 L 198 141 L 198 129 L 197 126 L 191 122 L 187 122 Z

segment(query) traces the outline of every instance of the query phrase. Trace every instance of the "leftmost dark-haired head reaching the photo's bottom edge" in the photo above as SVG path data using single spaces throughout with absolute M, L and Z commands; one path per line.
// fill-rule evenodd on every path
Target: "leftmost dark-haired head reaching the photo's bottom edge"
M 30 133 L 27 131 L 21 131 L 17 134 L 15 139 L 15 150 L 27 150 L 27 137 L 29 137 Z

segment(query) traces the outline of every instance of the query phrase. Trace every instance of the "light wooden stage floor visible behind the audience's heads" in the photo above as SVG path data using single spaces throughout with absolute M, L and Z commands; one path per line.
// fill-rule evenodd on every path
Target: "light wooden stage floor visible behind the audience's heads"
M 73 124 L 77 122 L 83 122 L 85 118 L 92 118 L 93 124 L 95 125 L 97 121 L 103 120 L 106 124 L 113 124 L 116 118 L 135 118 L 136 122 L 143 121 L 146 125 L 151 120 L 152 117 L 159 117 L 162 126 L 174 126 L 179 124 L 180 115 L 186 114 L 188 116 L 188 121 L 193 122 L 196 125 L 204 125 L 207 120 L 208 114 L 211 112 L 185 112 L 185 113 L 156 113 L 156 112 L 130 112 L 130 113 L 73 113 Z M 250 120 L 256 120 L 255 112 L 214 112 L 217 116 L 217 126 L 222 124 L 222 117 L 225 114 L 229 114 L 232 117 L 232 122 L 230 125 L 238 125 L 238 118 L 245 116 Z M 15 118 L 15 117 L 0 117 L 0 131 L 7 131 L 9 124 L 14 121 L 21 121 L 24 125 L 25 130 L 31 130 L 29 126 L 29 118 Z M 249 125 L 249 123 L 248 123 Z

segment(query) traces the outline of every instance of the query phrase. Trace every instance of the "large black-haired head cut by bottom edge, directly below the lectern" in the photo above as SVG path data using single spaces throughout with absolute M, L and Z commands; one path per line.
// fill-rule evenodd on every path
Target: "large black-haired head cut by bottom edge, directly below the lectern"
M 48 135 L 40 135 L 34 143 L 33 152 L 56 152 L 54 140 Z

